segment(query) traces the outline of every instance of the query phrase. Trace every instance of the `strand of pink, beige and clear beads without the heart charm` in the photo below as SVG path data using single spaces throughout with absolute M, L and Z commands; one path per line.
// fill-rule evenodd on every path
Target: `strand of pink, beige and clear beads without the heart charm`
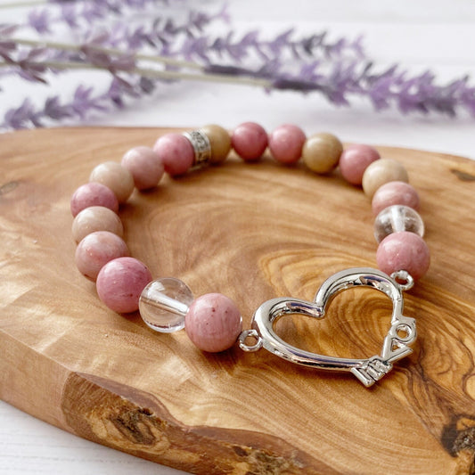
M 201 350 L 219 352 L 233 346 L 242 332 L 242 316 L 233 300 L 210 293 L 193 299 L 192 291 L 175 278 L 152 281 L 149 269 L 128 256 L 122 241 L 123 227 L 117 213 L 134 187 L 150 189 L 164 172 L 183 175 L 197 166 L 219 164 L 233 149 L 244 161 L 257 161 L 268 147 L 274 160 L 290 165 L 300 158 L 319 175 L 340 168 L 349 184 L 362 186 L 372 199 L 374 234 L 379 242 L 376 261 L 381 271 L 407 282 L 420 279 L 430 265 L 423 241 L 424 226 L 417 213 L 419 196 L 396 160 L 381 159 L 369 145 L 350 145 L 327 133 L 306 138 L 293 125 L 277 127 L 272 134 L 254 122 L 245 122 L 232 134 L 217 125 L 184 134 L 162 135 L 152 148 L 138 146 L 121 163 L 105 162 L 91 173 L 72 195 L 73 237 L 78 242 L 79 271 L 96 280 L 97 293 L 118 313 L 140 307 L 143 321 L 158 332 L 183 327 Z M 409 284 L 406 284 L 409 288 Z

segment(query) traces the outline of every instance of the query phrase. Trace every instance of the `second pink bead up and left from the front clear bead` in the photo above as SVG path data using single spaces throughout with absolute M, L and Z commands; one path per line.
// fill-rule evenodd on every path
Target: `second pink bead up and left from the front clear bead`
M 87 234 L 76 248 L 76 266 L 79 272 L 93 281 L 106 263 L 128 256 L 127 244 L 117 234 L 96 231 Z

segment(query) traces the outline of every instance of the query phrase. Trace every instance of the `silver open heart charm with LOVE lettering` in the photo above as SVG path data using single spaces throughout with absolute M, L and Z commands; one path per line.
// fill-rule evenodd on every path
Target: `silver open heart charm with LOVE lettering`
M 318 355 L 293 347 L 274 332 L 275 321 L 283 315 L 297 314 L 323 318 L 325 308 L 340 291 L 360 286 L 381 291 L 392 300 L 391 326 L 383 341 L 380 355 L 367 359 Z M 366 267 L 346 269 L 329 277 L 316 292 L 313 302 L 290 297 L 264 302 L 252 317 L 252 330 L 242 332 L 239 339 L 240 347 L 244 351 L 256 351 L 264 347 L 274 355 L 292 363 L 323 370 L 351 372 L 364 386 L 372 386 L 391 370 L 393 362 L 413 351 L 409 345 L 417 336 L 415 320 L 403 315 L 403 289 L 404 286 L 377 269 Z M 256 340 L 254 345 L 246 343 L 250 337 Z

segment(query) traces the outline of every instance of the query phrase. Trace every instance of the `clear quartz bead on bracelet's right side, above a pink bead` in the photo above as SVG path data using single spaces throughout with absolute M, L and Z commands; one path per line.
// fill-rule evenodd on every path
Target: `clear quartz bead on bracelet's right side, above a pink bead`
M 419 213 L 404 205 L 393 205 L 382 209 L 374 220 L 374 237 L 381 242 L 392 233 L 408 231 L 424 235 L 424 223 Z

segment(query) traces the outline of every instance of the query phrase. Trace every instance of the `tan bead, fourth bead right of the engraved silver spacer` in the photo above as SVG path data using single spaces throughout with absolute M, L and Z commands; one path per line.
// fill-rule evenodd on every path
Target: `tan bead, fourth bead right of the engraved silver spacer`
M 302 149 L 304 163 L 315 173 L 329 173 L 338 165 L 343 145 L 332 134 L 315 134 L 307 138 Z

